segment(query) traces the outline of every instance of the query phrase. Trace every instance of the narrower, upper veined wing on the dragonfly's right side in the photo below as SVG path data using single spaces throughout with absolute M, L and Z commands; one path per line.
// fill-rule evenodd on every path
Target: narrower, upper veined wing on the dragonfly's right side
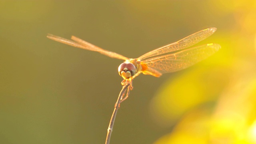
M 138 58 L 138 60 L 144 60 L 146 58 L 150 58 L 152 56 L 157 56 L 160 54 L 165 54 L 168 52 L 173 52 L 176 50 L 182 50 L 184 48 L 188 48 L 189 46 L 192 46 L 205 38 L 212 35 L 217 28 L 207 28 L 205 30 L 201 30 L 199 32 L 196 32 L 194 34 L 191 34 L 190 36 L 187 36 L 186 38 L 183 38 L 177 42 L 174 42 L 172 44 L 168 44 L 166 46 L 162 46 L 161 48 L 157 48 L 155 50 L 152 50 Z

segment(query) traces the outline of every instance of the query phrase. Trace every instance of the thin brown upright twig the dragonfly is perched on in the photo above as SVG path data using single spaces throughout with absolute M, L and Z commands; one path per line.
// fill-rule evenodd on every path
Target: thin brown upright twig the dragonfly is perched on
M 113 114 L 111 116 L 111 119 L 110 119 L 110 123 L 109 123 L 109 126 L 108 126 L 108 134 L 107 134 L 107 138 L 106 138 L 106 143 L 105 144 L 109 144 L 110 143 L 110 136 L 111 136 L 111 133 L 112 133 L 112 130 L 113 130 L 113 126 L 114 126 L 114 122 L 115 122 L 115 119 L 116 119 L 116 113 L 117 113 L 117 110 L 120 106 L 120 101 L 121 101 L 121 98 L 124 96 L 126 90 L 129 91 L 129 88 L 128 86 L 130 86 L 130 84 L 124 84 L 119 96 L 118 96 L 118 99 L 116 101 L 116 104 L 115 104 L 115 108 L 114 108 L 114 111 L 113 111 Z M 128 91 L 127 91 L 127 94 L 128 94 Z

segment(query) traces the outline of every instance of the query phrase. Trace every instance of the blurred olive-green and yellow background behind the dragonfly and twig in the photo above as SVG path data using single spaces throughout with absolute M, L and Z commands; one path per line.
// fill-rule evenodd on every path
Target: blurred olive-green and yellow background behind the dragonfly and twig
M 256 143 L 256 1 L 1 0 L 0 143 L 105 142 L 122 61 L 47 33 L 137 58 L 210 27 L 218 30 L 199 45 L 219 52 L 134 80 L 111 144 Z

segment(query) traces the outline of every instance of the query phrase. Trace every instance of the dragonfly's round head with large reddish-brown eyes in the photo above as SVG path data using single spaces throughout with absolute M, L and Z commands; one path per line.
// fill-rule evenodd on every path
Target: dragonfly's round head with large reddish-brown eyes
M 122 76 L 124 79 L 129 79 L 130 77 L 134 76 L 136 72 L 136 68 L 134 64 L 132 63 L 122 63 L 118 67 L 118 73 L 120 76 Z

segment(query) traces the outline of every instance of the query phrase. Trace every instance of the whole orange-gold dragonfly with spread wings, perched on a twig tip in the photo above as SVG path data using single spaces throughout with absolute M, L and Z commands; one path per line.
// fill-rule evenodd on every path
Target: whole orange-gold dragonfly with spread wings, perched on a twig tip
M 124 60 L 124 62 L 118 67 L 118 74 L 124 79 L 121 84 L 129 84 L 130 86 L 128 87 L 126 97 L 122 97 L 122 102 L 128 98 L 130 90 L 133 89 L 132 80 L 139 74 L 142 73 L 160 77 L 164 73 L 176 72 L 178 70 L 188 68 L 189 66 L 192 66 L 193 64 L 196 64 L 217 52 L 221 46 L 214 43 L 188 48 L 208 38 L 216 30 L 217 28 L 200 30 L 199 32 L 178 40 L 177 42 L 143 54 L 138 58 L 127 58 L 115 52 L 104 50 L 75 36 L 72 36 L 71 40 L 68 40 L 53 34 L 48 34 L 47 38 L 77 48 L 99 52 L 100 54 L 104 54 L 110 58 Z

